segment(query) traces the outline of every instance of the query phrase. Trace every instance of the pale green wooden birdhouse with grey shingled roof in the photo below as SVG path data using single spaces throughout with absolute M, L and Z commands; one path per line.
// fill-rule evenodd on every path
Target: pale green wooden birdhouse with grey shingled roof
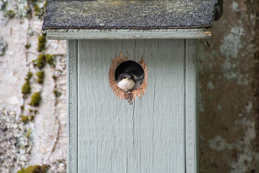
M 217 3 L 49 1 L 42 29 L 67 40 L 67 172 L 198 172 L 197 39 Z

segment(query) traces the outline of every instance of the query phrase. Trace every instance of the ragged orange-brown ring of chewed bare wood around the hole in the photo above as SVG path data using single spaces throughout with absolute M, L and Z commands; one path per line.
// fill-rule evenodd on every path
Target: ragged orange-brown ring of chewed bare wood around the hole
M 139 61 L 138 63 L 144 70 L 144 80 L 137 89 L 133 89 L 129 92 L 125 92 L 122 89 L 120 89 L 116 84 L 115 71 L 121 63 L 128 61 L 128 60 L 129 60 L 129 57 L 122 57 L 122 52 L 120 52 L 119 57 L 115 56 L 112 59 L 112 64 L 111 64 L 111 67 L 109 70 L 109 83 L 110 83 L 110 87 L 112 88 L 114 94 L 119 96 L 120 99 L 126 99 L 126 100 L 131 101 L 132 99 L 135 99 L 136 97 L 140 98 L 141 95 L 145 94 L 145 89 L 147 88 L 147 64 L 144 62 L 143 57 L 142 57 L 141 61 Z

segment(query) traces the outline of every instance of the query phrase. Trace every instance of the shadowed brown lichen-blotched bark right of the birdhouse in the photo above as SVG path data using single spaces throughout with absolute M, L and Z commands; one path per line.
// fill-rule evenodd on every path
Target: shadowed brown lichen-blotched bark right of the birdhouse
M 211 47 L 206 40 L 200 41 L 202 173 L 259 172 L 255 96 L 259 89 L 258 4 L 253 0 L 225 0 L 223 16 L 214 23 L 213 36 L 208 40 Z

